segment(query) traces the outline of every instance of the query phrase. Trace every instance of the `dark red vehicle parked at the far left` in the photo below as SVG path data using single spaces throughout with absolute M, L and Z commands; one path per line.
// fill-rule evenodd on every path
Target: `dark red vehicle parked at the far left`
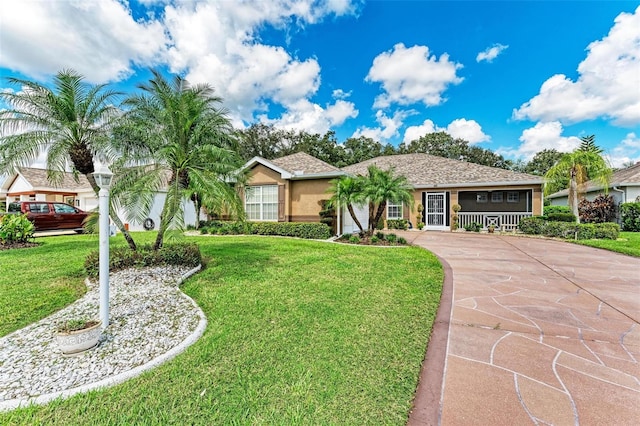
M 51 201 L 19 201 L 9 204 L 7 213 L 26 213 L 36 231 L 71 229 L 82 232 L 89 213 L 69 204 Z

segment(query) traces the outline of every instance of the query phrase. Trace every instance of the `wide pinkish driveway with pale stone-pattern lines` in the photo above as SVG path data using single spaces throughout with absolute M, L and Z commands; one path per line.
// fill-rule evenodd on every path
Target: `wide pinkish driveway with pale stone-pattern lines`
M 402 235 L 443 260 L 451 287 L 409 424 L 638 424 L 640 259 L 546 239 Z

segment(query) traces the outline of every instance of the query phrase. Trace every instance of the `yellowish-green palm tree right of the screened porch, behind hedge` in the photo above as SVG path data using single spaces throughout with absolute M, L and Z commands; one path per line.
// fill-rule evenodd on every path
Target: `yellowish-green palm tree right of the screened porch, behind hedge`
M 576 222 L 580 223 L 578 200 L 580 195 L 584 193 L 584 184 L 590 180 L 590 176 L 602 184 L 605 192 L 607 192 L 609 181 L 611 180 L 611 168 L 604 158 L 591 150 L 583 151 L 577 149 L 572 153 L 565 154 L 544 175 L 545 195 L 553 192 L 553 189 L 557 188 L 558 182 L 566 182 L 568 178 L 569 207 L 571 207 L 571 213 L 576 217 Z

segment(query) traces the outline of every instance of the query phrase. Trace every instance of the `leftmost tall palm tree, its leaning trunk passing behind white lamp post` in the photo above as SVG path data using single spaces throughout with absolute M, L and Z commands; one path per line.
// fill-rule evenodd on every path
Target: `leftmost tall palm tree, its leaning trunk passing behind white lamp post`
M 0 172 L 14 172 L 46 153 L 52 183 L 61 182 L 70 165 L 76 177 L 87 178 L 97 195 L 100 188 L 93 177 L 93 159 L 111 152 L 110 131 L 119 117 L 114 102 L 120 93 L 105 85 L 89 85 L 73 70 L 58 72 L 53 89 L 19 78 L 7 81 L 21 88 L 0 92 L 0 100 L 10 107 L 0 111 Z M 135 250 L 113 207 L 109 213 Z

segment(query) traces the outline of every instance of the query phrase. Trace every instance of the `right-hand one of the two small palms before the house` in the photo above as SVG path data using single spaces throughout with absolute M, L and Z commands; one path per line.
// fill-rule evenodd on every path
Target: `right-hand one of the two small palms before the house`
M 387 202 L 402 203 L 413 209 L 413 187 L 405 176 L 394 176 L 393 168 L 381 170 L 375 165 L 367 169 L 363 195 L 369 200 L 369 230 L 373 233 L 387 207 Z

